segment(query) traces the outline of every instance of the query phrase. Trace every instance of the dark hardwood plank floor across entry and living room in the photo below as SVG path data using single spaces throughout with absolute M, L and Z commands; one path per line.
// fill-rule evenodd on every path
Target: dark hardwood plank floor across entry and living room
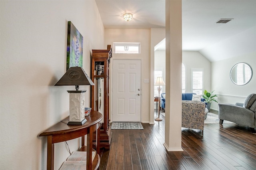
M 256 134 L 236 124 L 182 128 L 183 152 L 164 148 L 163 121 L 144 130 L 112 130 L 110 150 L 101 150 L 100 170 L 256 170 Z

